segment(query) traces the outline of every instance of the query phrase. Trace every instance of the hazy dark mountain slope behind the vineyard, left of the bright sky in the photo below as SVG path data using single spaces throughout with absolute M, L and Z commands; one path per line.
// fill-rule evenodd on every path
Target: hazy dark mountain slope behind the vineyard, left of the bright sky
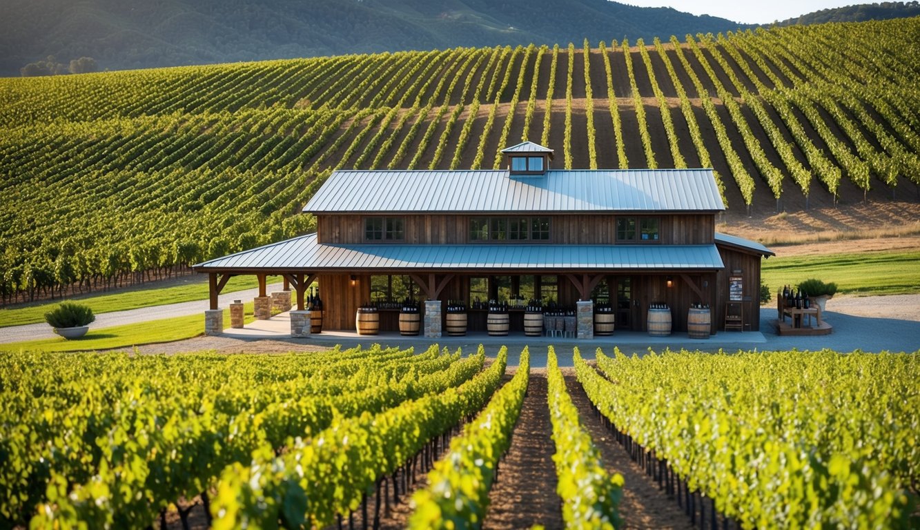
M 49 55 L 124 70 L 738 28 L 607 0 L 8 0 L 0 75 Z

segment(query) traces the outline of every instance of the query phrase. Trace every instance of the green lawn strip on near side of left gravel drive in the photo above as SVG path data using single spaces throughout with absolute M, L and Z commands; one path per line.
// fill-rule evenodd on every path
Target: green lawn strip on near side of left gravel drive
M 246 314 L 245 322 L 248 324 L 255 318 L 252 315 L 252 302 L 244 305 Z M 230 325 L 230 309 L 224 309 L 224 326 Z M 189 315 L 188 317 L 164 318 L 139 322 L 126 326 L 94 329 L 80 339 L 66 340 L 63 337 L 53 339 L 29 340 L 25 342 L 11 342 L 0 344 L 0 351 L 98 351 L 124 348 L 130 350 L 133 346 L 141 344 L 155 344 L 156 342 L 171 342 L 198 337 L 204 333 L 203 314 Z

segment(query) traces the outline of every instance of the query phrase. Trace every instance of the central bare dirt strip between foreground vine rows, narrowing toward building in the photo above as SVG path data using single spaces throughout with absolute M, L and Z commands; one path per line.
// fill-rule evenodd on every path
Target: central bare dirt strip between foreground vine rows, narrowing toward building
M 499 479 L 489 491 L 483 528 L 562 528 L 556 494 L 552 425 L 546 405 L 546 370 L 532 370 L 512 445 L 502 458 Z

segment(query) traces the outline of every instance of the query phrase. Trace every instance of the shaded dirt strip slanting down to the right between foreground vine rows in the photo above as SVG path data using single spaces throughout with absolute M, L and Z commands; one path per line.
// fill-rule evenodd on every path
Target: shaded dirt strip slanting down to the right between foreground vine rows
M 569 396 L 578 407 L 581 424 L 591 434 L 594 445 L 600 449 L 604 466 L 623 475 L 625 479 L 623 498 L 620 501 L 624 528 L 693 528 L 690 518 L 677 506 L 677 502 L 659 490 L 658 485 L 646 476 L 604 429 L 594 415 L 591 402 L 575 379 L 574 370 L 563 368 L 562 372 L 565 374 Z

